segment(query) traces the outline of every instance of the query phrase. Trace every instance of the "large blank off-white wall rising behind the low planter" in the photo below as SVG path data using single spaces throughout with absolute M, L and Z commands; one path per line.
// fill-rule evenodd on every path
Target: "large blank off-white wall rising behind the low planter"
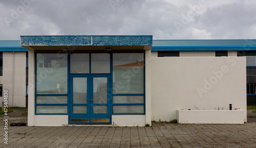
M 246 110 L 245 57 L 152 57 L 151 61 L 152 120 L 177 119 L 177 109 L 227 110 L 232 104 Z

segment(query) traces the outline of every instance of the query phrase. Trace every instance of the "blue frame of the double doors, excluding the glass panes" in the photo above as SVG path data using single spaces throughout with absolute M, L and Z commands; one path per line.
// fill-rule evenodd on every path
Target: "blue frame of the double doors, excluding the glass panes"
M 69 124 L 111 124 L 111 74 L 70 74 L 70 95 L 69 95 Z M 87 77 L 87 113 L 73 114 L 73 78 L 74 77 Z M 93 102 L 90 101 L 93 99 L 93 78 L 94 77 L 107 77 L 108 78 L 108 113 L 107 114 L 93 114 Z M 83 104 L 85 105 L 85 104 Z M 98 104 L 100 105 L 100 104 Z M 89 119 L 88 122 L 71 122 L 71 119 Z M 91 122 L 97 119 L 109 119 L 109 122 Z

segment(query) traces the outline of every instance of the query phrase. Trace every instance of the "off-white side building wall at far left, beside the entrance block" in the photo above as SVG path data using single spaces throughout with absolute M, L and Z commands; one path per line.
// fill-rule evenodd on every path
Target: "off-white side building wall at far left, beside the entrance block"
M 3 92 L 8 91 L 8 106 L 13 107 L 14 97 L 15 107 L 26 107 L 26 52 L 3 52 L 3 76 L 0 77 Z M 4 96 L 0 97 L 3 99 Z

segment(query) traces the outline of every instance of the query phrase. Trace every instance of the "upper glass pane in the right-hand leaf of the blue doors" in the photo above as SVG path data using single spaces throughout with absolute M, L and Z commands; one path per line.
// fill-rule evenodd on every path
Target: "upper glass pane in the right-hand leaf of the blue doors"
M 108 100 L 108 78 L 94 77 L 93 78 L 93 103 L 106 104 Z

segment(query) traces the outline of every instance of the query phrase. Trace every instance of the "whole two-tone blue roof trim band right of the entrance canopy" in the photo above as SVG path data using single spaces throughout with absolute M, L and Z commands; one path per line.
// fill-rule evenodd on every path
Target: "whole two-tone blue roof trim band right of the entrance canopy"
M 255 39 L 245 40 L 153 40 L 152 51 L 256 50 Z

